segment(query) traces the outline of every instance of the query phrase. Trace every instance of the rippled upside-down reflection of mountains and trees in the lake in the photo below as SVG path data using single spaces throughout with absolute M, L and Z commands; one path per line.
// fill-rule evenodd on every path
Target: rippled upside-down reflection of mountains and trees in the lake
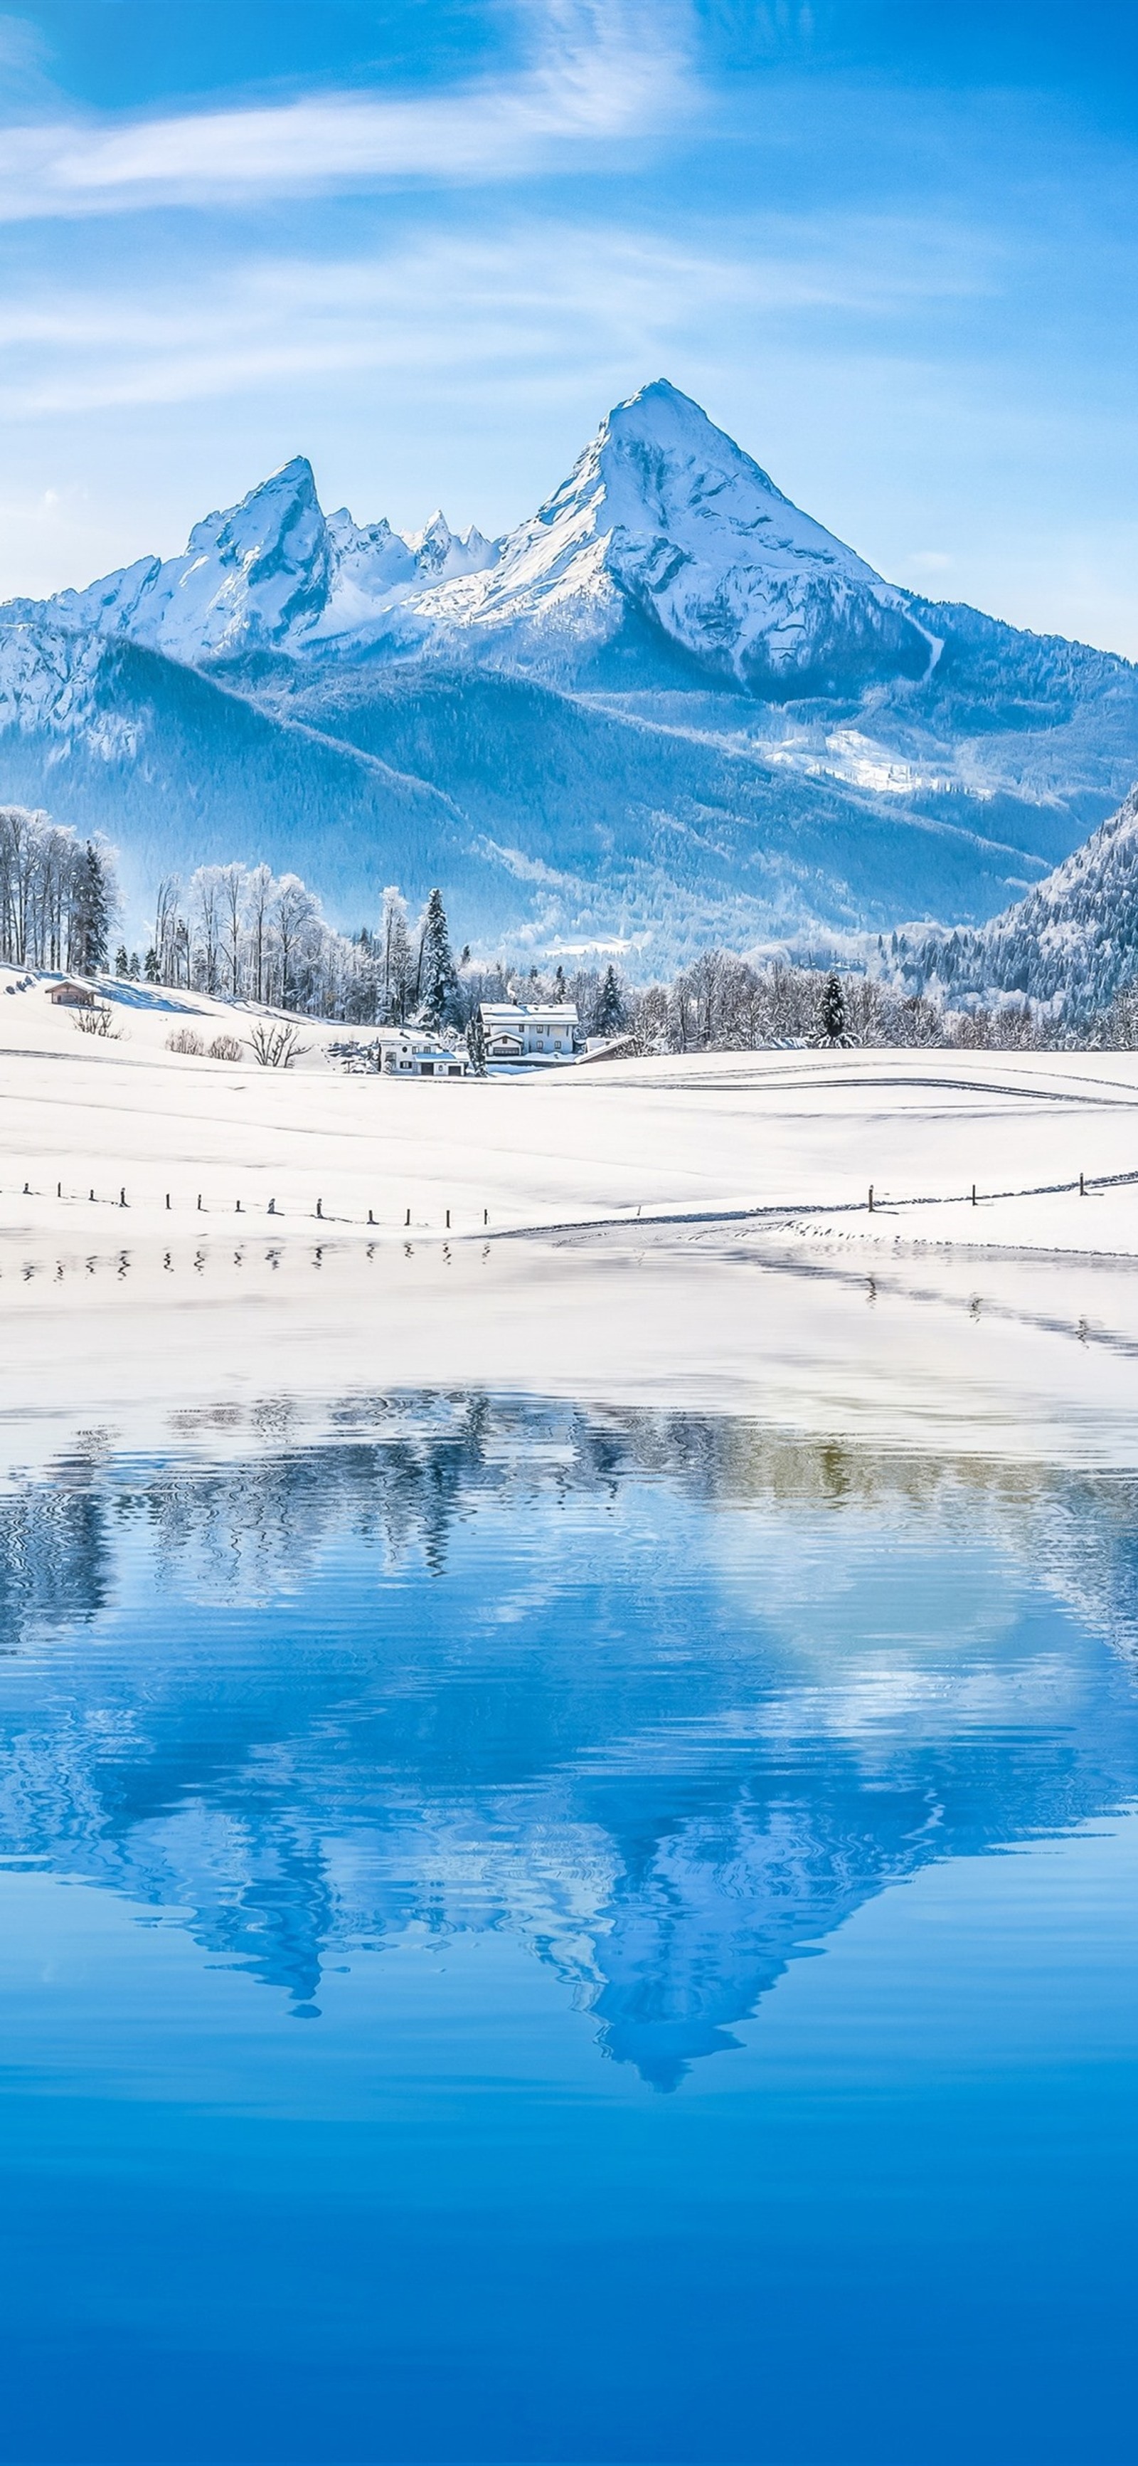
M 0 1852 L 318 2017 L 507 1928 L 660 2089 L 931 1859 L 1138 1790 L 1138 1487 L 495 1396 L 0 1499 Z

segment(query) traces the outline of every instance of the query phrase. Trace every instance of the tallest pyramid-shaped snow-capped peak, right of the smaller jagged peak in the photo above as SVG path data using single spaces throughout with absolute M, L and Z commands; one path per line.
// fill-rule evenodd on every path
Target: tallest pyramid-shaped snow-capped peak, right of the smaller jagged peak
M 426 639 L 544 673 L 675 649 L 776 698 L 919 678 L 938 639 L 675 385 L 621 402 L 498 560 L 411 602 Z M 645 641 L 648 629 L 648 641 Z M 608 658 L 606 658 L 608 653 Z

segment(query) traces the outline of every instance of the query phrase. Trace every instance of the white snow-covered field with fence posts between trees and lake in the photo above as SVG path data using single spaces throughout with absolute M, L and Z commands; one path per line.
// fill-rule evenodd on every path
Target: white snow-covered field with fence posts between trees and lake
M 409 1383 L 1138 1462 L 1133 1055 L 399 1083 L 330 1063 L 345 1028 L 283 1073 L 167 1051 L 249 1033 L 227 1004 L 113 1016 L 0 969 L 7 1462 Z

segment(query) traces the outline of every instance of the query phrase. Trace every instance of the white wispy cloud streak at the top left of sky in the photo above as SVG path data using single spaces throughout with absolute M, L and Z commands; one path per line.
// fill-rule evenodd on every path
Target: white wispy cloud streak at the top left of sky
M 0 219 L 214 205 L 406 180 L 510 180 L 695 111 L 680 0 L 547 0 L 510 76 L 429 94 L 318 94 L 91 126 L 0 131 Z

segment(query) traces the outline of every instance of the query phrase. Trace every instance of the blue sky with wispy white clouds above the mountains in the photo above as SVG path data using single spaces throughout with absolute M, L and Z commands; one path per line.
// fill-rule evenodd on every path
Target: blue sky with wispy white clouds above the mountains
M 1138 656 L 1128 0 L 0 15 L 0 589 L 305 451 L 500 530 L 668 375 L 884 575 Z

